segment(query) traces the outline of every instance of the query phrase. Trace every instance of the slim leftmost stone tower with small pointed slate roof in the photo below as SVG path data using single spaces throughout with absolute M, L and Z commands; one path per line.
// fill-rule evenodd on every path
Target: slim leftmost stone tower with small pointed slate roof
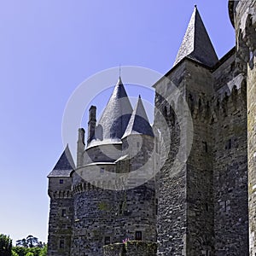
M 73 231 L 72 175 L 75 170 L 73 158 L 67 146 L 52 172 L 49 173 L 48 195 L 49 236 L 48 255 L 69 256 Z

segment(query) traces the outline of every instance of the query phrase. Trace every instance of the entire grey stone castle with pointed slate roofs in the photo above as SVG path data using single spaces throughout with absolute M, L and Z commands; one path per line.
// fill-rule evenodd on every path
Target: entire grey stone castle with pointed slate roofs
M 120 78 L 98 121 L 91 106 L 76 165 L 67 147 L 48 176 L 49 256 L 256 255 L 256 1 L 229 11 L 236 47 L 218 60 L 195 7 L 152 84 L 154 125 Z

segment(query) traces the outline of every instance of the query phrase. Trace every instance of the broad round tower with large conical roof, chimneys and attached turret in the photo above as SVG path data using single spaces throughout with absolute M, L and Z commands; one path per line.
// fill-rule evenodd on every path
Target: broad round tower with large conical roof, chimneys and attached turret
M 79 129 L 79 164 L 73 173 L 73 256 L 101 256 L 105 245 L 125 239 L 156 240 L 154 180 L 127 189 L 131 184 L 125 180 L 108 178 L 108 173 L 137 170 L 154 151 L 154 133 L 142 100 L 132 112 L 119 78 L 97 124 L 96 108 L 92 110 L 93 129 L 84 150 L 84 130 Z M 142 132 L 136 131 L 137 125 Z M 84 178 L 88 173 L 90 180 Z

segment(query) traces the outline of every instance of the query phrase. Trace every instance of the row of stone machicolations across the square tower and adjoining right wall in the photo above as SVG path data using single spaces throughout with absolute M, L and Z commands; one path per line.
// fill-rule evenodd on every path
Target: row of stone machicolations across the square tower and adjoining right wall
M 183 101 L 186 100 L 193 119 L 201 119 L 212 124 L 235 113 L 239 108 L 246 108 L 247 83 L 242 75 L 232 79 L 229 84 L 218 90 L 215 96 L 189 92 L 186 99 L 179 96 L 172 104 L 163 102 L 161 112 L 171 125 L 176 124 L 176 114 L 183 114 Z

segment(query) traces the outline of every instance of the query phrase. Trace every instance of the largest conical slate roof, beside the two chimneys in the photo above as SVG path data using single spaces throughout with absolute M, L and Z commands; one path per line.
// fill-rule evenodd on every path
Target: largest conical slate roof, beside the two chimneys
M 96 127 L 96 138 L 101 140 L 120 139 L 125 133 L 131 113 L 131 102 L 119 77 L 107 107 Z

